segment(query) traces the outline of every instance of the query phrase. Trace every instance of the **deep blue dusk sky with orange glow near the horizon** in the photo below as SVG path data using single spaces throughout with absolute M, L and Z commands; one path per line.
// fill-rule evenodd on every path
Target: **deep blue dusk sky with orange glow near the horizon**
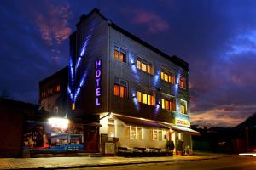
M 0 93 L 38 103 L 38 82 L 68 64 L 79 16 L 108 19 L 189 63 L 191 120 L 232 127 L 256 111 L 256 1 L 0 1 Z

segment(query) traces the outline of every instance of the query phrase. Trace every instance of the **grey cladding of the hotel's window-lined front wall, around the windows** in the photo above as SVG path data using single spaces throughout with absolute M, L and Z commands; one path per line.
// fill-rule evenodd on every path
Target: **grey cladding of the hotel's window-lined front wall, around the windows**
M 113 58 L 113 49 L 117 45 L 121 48 L 125 48 L 128 51 L 128 64 L 117 61 Z M 171 94 L 177 96 L 177 105 L 179 99 L 188 101 L 189 106 L 189 75 L 187 71 L 184 71 L 178 65 L 173 64 L 168 59 L 154 53 L 143 45 L 131 40 L 119 31 L 110 29 L 110 101 L 111 111 L 125 114 L 128 116 L 138 116 L 148 119 L 154 119 L 163 122 L 174 122 L 174 114 L 170 111 L 162 110 L 156 106 L 144 105 L 136 102 L 137 88 L 143 86 L 150 88 L 156 95 L 156 103 L 160 102 L 161 93 Z M 148 60 L 154 66 L 154 75 L 150 75 L 137 69 L 136 59 L 141 57 Z M 133 64 L 134 63 L 134 64 Z M 172 71 L 175 76 L 180 75 L 187 80 L 186 90 L 181 88 L 175 88 L 175 85 L 160 80 L 161 68 L 166 68 Z M 123 78 L 129 83 L 129 99 L 120 99 L 113 96 L 113 84 L 114 77 Z M 158 90 L 161 88 L 161 90 Z M 177 89 L 177 90 L 176 90 Z M 177 91 L 177 92 L 176 92 Z M 161 106 L 160 106 L 161 107 Z

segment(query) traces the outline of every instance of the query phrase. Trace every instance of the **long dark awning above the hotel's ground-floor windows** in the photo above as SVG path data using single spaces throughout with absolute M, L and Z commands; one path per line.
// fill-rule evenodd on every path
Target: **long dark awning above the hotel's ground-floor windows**
M 133 117 L 128 117 L 128 116 L 117 116 L 114 115 L 117 119 L 119 119 L 122 122 L 125 122 L 125 124 L 131 124 L 135 126 L 141 126 L 141 127 L 157 127 L 157 128 L 166 128 L 169 129 L 169 127 L 159 123 L 159 122 L 154 122 L 154 121 L 148 121 L 145 119 L 140 119 L 140 118 L 133 118 Z

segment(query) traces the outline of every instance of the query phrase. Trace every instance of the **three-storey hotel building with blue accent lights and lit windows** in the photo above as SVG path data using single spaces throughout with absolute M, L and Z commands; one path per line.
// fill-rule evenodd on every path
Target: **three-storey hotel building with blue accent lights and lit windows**
M 125 147 L 192 147 L 189 64 L 108 20 L 98 9 L 81 16 L 70 36 L 68 95 L 84 130 L 84 150 L 100 136 Z

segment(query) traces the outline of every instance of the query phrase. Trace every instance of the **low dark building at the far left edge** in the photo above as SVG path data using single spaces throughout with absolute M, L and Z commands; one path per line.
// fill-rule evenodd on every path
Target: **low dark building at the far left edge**
M 0 99 L 0 157 L 20 157 L 25 144 L 36 140 L 25 135 L 27 122 L 45 122 L 47 112 L 38 111 L 38 105 Z

